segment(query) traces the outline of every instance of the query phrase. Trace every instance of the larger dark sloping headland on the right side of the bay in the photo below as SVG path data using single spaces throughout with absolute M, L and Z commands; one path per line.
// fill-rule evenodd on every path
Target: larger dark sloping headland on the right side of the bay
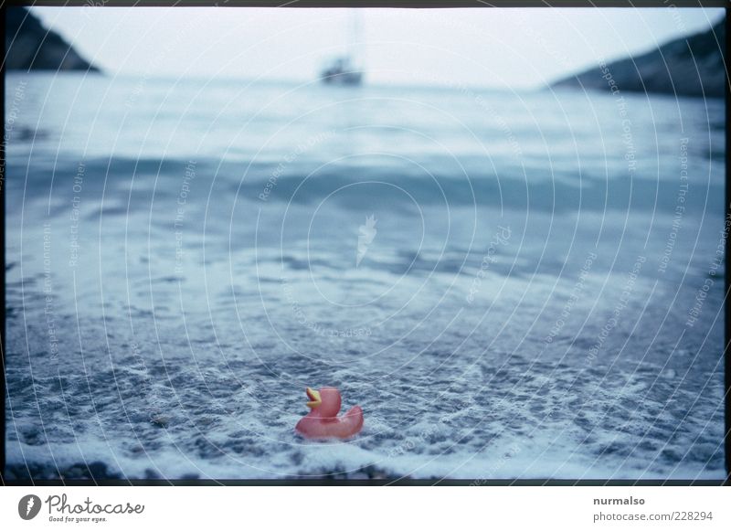
M 647 91 L 679 96 L 723 97 L 726 68 L 726 21 L 712 29 L 682 37 L 648 53 L 607 64 L 611 77 L 622 91 Z M 609 90 L 609 82 L 598 66 L 558 80 L 553 87 Z

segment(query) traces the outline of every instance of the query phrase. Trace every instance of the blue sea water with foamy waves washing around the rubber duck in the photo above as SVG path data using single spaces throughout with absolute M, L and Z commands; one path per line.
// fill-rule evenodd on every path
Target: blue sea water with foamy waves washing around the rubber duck
M 6 471 L 723 478 L 724 103 L 5 79 Z M 360 404 L 305 441 L 304 388 Z

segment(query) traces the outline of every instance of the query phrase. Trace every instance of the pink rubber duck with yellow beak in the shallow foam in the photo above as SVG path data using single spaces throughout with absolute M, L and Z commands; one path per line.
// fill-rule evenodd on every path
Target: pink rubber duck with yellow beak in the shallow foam
M 302 417 L 295 430 L 308 439 L 347 439 L 363 428 L 363 409 L 355 406 L 343 416 L 340 413 L 340 391 L 336 388 L 305 389 L 307 407 L 312 409 Z

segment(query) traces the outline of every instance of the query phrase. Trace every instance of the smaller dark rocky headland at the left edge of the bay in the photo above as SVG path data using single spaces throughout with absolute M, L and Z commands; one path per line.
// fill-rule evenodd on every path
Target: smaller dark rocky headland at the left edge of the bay
M 99 71 L 25 7 L 5 10 L 5 69 Z

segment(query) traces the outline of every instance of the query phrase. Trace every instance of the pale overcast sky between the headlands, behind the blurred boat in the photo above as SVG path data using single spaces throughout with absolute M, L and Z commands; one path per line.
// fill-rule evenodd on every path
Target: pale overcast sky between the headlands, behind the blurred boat
M 344 51 L 353 10 L 33 7 L 111 74 L 310 80 Z M 364 9 L 367 80 L 530 88 L 674 37 L 722 9 Z

